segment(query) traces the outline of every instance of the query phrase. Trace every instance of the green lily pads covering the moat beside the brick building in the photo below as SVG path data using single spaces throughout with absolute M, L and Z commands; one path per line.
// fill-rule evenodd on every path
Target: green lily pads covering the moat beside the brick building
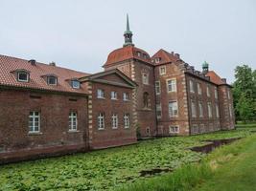
M 207 165 L 198 171 L 189 165 L 204 159 L 205 155 L 188 148 L 205 144 L 202 140 L 250 135 L 245 128 L 185 138 L 157 138 L 131 146 L 3 165 L 0 166 L 0 190 L 113 190 L 132 182 L 168 179 L 169 174 L 140 177 L 141 170 L 153 168 L 177 169 L 175 182 L 182 184 L 185 179 L 196 184 L 198 177 L 211 174 L 203 169 L 207 169 Z M 179 168 L 182 165 L 187 169 Z M 191 173 L 184 176 L 189 170 Z

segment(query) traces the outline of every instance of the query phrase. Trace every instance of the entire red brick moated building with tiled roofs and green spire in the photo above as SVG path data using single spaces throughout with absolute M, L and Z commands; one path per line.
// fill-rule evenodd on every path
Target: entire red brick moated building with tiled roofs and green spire
M 0 163 L 234 128 L 231 86 L 208 63 L 124 36 L 98 74 L 0 55 Z

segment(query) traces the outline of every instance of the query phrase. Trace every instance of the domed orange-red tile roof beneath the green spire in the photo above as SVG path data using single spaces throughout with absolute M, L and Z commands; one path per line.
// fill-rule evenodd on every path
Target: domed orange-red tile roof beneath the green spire
M 138 55 L 138 53 L 140 53 L 140 56 Z M 144 57 L 144 55 L 146 55 L 146 57 Z M 151 64 L 151 56 L 149 55 L 149 53 L 134 46 L 126 46 L 109 53 L 104 67 L 130 58 L 136 58 L 138 60 Z

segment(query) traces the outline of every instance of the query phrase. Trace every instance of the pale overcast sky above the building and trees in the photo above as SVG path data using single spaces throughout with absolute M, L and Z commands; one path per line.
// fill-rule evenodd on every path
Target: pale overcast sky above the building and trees
M 123 46 L 126 13 L 133 43 L 146 52 L 206 60 L 228 82 L 237 65 L 256 69 L 255 0 L 0 0 L 0 54 L 85 73 L 101 72 Z

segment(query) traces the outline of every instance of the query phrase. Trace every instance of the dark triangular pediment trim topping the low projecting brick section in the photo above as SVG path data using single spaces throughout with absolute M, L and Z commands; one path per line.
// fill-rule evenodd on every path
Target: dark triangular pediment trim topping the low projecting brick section
M 121 77 L 126 83 L 121 83 L 113 80 L 105 80 L 101 78 L 109 74 L 116 74 L 117 76 Z M 113 69 L 113 70 L 108 70 L 102 73 L 87 75 L 87 76 L 81 77 L 80 81 L 81 82 L 93 81 L 93 82 L 111 84 L 114 86 L 121 86 L 121 87 L 127 87 L 127 88 L 135 88 L 137 86 L 136 82 L 132 81 L 126 74 L 123 74 L 118 69 Z

